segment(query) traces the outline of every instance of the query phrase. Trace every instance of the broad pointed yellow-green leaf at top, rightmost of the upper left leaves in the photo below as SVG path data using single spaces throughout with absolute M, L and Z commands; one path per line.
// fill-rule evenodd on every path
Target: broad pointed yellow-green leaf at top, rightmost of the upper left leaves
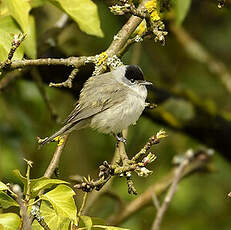
M 60 7 L 78 23 L 79 28 L 87 34 L 103 37 L 97 6 L 91 0 L 50 0 Z M 57 4 L 55 4 L 57 6 Z

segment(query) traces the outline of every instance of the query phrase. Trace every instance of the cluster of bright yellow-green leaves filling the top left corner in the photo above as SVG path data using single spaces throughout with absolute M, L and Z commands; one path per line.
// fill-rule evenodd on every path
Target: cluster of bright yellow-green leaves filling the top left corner
M 29 58 L 37 57 L 35 19 L 30 12 L 48 1 L 72 17 L 85 33 L 103 36 L 97 6 L 91 0 L 3 0 L 0 2 L 0 61 L 7 58 L 12 33 L 18 34 L 20 31 L 25 33 L 27 38 L 23 47 L 16 51 L 14 59 L 22 59 L 24 53 Z

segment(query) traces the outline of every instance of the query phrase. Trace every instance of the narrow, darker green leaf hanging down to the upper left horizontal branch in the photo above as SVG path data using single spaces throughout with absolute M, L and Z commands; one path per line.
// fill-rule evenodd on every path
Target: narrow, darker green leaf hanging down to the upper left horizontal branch
M 36 29 L 33 16 L 29 17 L 29 27 L 27 30 L 26 38 L 23 41 L 23 47 L 25 54 L 29 58 L 35 59 L 37 57 Z

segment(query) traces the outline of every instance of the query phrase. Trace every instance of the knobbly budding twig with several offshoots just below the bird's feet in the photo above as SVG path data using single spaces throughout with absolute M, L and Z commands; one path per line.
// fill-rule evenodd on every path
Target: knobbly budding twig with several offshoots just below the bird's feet
M 154 138 L 155 137 L 155 138 Z M 146 144 L 145 151 L 142 154 L 147 155 L 143 159 L 140 159 L 138 162 L 138 158 L 140 158 L 141 154 L 138 153 L 138 157 L 135 157 L 136 161 L 129 160 L 127 153 L 125 151 L 124 143 L 119 142 L 117 143 L 116 152 L 120 158 L 117 158 L 118 161 L 114 164 L 109 164 L 107 161 L 104 161 L 102 165 L 99 167 L 99 178 L 91 179 L 90 177 L 82 178 L 82 181 L 76 184 L 74 187 L 77 189 L 81 189 L 84 192 L 91 192 L 92 190 L 101 190 L 102 187 L 113 177 L 113 176 L 120 176 L 126 177 L 127 184 L 128 184 L 128 192 L 130 194 L 137 194 L 136 189 L 133 185 L 133 181 L 131 179 L 131 172 L 136 172 L 138 176 L 146 177 L 152 173 L 152 171 L 146 168 L 147 164 L 150 164 L 156 159 L 156 156 L 153 153 L 148 153 L 147 150 L 155 142 L 160 139 L 166 137 L 166 133 L 161 130 L 159 131 L 153 138 L 149 139 L 148 144 Z

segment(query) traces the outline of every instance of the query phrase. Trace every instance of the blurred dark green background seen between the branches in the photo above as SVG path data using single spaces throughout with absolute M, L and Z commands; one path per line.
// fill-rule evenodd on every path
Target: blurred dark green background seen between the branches
M 57 36 L 55 35 L 57 45 L 48 48 L 44 46 L 45 48 L 41 48 L 40 56 L 94 55 L 105 50 L 128 17 L 111 14 L 108 10 L 110 1 L 95 1 L 95 3 L 99 8 L 104 38 L 86 35 L 75 23 L 70 22 L 59 31 Z M 182 26 L 216 59 L 230 68 L 230 5 L 227 1 L 227 6 L 218 9 L 216 3 L 216 1 L 192 1 Z M 52 28 L 62 12 L 51 4 L 46 4 L 34 9 L 32 14 L 36 17 L 37 40 L 40 44 L 46 40 L 47 31 L 51 34 L 54 32 Z M 152 81 L 158 88 L 169 92 L 174 92 L 176 89 L 190 89 L 200 100 L 209 101 L 218 112 L 231 113 L 230 92 L 221 83 L 219 76 L 212 74 L 205 64 L 194 60 L 185 52 L 171 32 L 170 24 L 171 17 L 166 21 L 169 35 L 165 46 L 154 43 L 153 40 L 144 41 L 140 45 L 132 46 L 123 56 L 123 62 L 139 64 L 146 79 Z M 60 73 L 61 79 L 64 80 L 69 70 L 52 67 L 52 71 L 49 68 L 40 68 L 39 71 L 51 103 L 63 120 L 72 110 L 78 97 L 78 90 L 73 92 L 73 90 L 49 88 L 48 82 L 52 79 L 58 82 Z M 89 71 L 88 68 L 87 77 L 90 75 Z M 84 78 L 86 78 L 84 74 L 76 78 L 76 88 L 80 89 L 79 82 L 82 84 Z M 151 100 L 155 102 L 155 99 L 151 98 Z M 185 100 L 176 101 L 170 98 L 158 106 L 181 120 L 187 120 L 194 113 L 191 104 Z M 51 143 L 38 150 L 36 136 L 47 136 L 58 127 L 59 125 L 50 118 L 49 111 L 29 73 L 0 92 L 0 179 L 4 182 L 17 183 L 12 170 L 18 168 L 21 172 L 25 172 L 23 158 L 34 162 L 33 178 L 42 176 L 56 144 Z M 142 116 L 136 126 L 129 128 L 128 154 L 132 156 L 138 152 L 146 140 L 160 128 L 164 128 L 169 136 L 152 147 L 157 160 L 149 168 L 154 173 L 148 178 L 134 176 L 139 194 L 172 168 L 171 161 L 174 155 L 204 145 L 203 142 L 196 141 L 184 132 L 178 132 Z M 69 176 L 75 174 L 96 177 L 98 166 L 104 160 L 111 160 L 114 146 L 113 137 L 96 131 L 87 129 L 73 133 L 61 158 L 60 178 L 69 180 Z M 230 152 L 230 149 L 227 151 Z M 231 166 L 223 156 L 224 154 L 221 155 L 215 149 L 213 172 L 195 174 L 180 183 L 161 229 L 228 230 L 231 228 L 231 199 L 227 197 L 231 191 Z M 135 199 L 127 193 L 127 185 L 123 178 L 116 178 L 112 189 L 125 203 Z M 77 203 L 81 198 L 81 192 L 77 191 Z M 115 209 L 116 202 L 102 196 L 93 205 L 89 215 L 107 218 Z M 149 229 L 155 213 L 155 207 L 150 203 L 121 226 L 132 230 Z

